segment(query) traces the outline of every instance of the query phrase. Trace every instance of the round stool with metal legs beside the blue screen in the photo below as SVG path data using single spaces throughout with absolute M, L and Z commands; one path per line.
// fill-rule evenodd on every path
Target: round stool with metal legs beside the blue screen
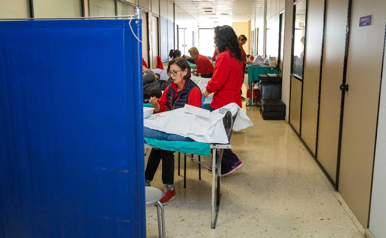
M 159 199 L 163 197 L 163 192 L 156 187 L 145 187 L 145 203 L 146 205 L 154 204 L 157 205 L 157 217 L 158 217 L 158 236 L 159 238 L 165 238 L 165 213 L 164 207 L 159 202 Z M 161 210 L 161 214 L 159 214 Z M 162 222 L 162 227 L 161 227 Z

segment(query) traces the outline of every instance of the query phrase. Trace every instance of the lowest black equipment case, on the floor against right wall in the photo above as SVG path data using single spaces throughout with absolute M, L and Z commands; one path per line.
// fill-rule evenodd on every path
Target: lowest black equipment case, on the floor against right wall
M 279 99 L 262 99 L 260 113 L 264 120 L 284 120 L 286 105 Z

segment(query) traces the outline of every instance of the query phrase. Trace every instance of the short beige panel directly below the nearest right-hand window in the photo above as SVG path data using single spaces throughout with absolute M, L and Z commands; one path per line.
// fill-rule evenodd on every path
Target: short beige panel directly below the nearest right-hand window
M 289 123 L 297 133 L 300 130 L 300 103 L 301 103 L 301 81 L 291 77 L 291 108 L 289 110 Z

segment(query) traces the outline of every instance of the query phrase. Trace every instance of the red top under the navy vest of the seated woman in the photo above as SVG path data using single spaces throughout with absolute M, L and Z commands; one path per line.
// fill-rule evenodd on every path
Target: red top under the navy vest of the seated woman
M 178 91 L 177 90 L 177 85 L 174 82 L 171 82 L 171 84 L 165 88 L 165 91 L 162 94 L 161 98 L 158 99 L 157 103 L 159 105 L 159 111 L 154 112 L 154 114 L 155 113 L 164 112 L 164 111 L 167 111 L 169 109 L 169 107 L 168 107 L 168 99 L 166 98 L 166 95 L 168 94 L 168 89 L 169 89 L 170 86 L 172 88 L 174 88 L 174 90 L 176 90 L 176 92 L 179 92 L 179 91 L 181 91 L 182 89 L 185 88 L 185 86 L 184 86 L 184 88 L 182 88 L 181 90 Z M 176 98 L 177 95 L 178 95 L 178 93 L 176 93 L 176 95 L 174 95 L 174 98 Z M 192 88 L 190 90 L 190 93 L 189 93 L 189 96 L 188 96 L 188 104 L 192 105 L 192 106 L 199 107 L 199 108 L 201 107 L 201 91 L 200 91 L 199 88 L 194 87 L 194 88 Z

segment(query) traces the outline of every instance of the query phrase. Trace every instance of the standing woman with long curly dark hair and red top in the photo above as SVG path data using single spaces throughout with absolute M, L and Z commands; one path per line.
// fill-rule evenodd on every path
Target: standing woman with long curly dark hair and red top
M 213 111 L 229 103 L 241 105 L 240 89 L 243 82 L 243 57 L 241 54 L 239 40 L 236 33 L 229 25 L 217 26 L 214 28 L 215 44 L 218 49 L 216 64 L 213 70 L 213 77 L 208 82 L 207 88 L 202 95 L 207 97 L 214 93 L 213 101 L 209 110 Z M 231 149 L 224 149 L 221 161 L 221 176 L 239 169 L 243 163 Z M 211 169 L 208 170 L 210 173 Z

